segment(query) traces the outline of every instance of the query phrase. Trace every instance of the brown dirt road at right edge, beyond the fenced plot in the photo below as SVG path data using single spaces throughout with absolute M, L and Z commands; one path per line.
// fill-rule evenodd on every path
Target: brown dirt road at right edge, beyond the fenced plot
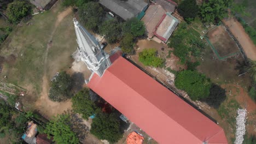
M 248 58 L 256 61 L 256 46 L 253 44 L 253 41 L 249 38 L 249 35 L 243 29 L 241 23 L 239 23 L 233 17 L 229 20 L 223 20 L 225 25 L 230 29 L 232 34 L 236 37 L 239 41 L 243 50 L 245 51 Z

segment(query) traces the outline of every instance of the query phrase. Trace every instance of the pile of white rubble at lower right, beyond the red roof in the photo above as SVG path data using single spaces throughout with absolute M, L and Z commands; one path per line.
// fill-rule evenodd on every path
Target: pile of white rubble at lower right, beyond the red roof
M 243 143 L 243 135 L 246 132 L 246 109 L 238 109 L 236 117 L 236 141 L 235 144 Z

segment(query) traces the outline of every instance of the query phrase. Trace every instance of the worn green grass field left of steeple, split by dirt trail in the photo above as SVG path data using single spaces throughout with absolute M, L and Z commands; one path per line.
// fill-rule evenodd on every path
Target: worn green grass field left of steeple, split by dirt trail
M 51 79 L 57 71 L 69 67 L 70 56 L 76 47 L 74 15 L 67 15 L 56 25 L 57 16 L 63 10 L 60 4 L 55 5 L 50 11 L 33 16 L 29 25 L 22 23 L 22 26 L 14 28 L 1 45 L 0 55 L 5 57 L 0 74 L 2 80 L 25 87 L 28 93 L 38 98 L 42 91 L 44 68 Z M 44 65 L 48 46 L 48 59 Z M 5 75 L 7 80 L 3 79 Z

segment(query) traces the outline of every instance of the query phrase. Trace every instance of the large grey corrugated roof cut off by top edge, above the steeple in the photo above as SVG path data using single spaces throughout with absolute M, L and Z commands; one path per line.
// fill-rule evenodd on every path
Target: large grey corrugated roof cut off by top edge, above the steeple
M 142 0 L 100 0 L 99 2 L 124 20 L 137 16 L 148 5 Z

